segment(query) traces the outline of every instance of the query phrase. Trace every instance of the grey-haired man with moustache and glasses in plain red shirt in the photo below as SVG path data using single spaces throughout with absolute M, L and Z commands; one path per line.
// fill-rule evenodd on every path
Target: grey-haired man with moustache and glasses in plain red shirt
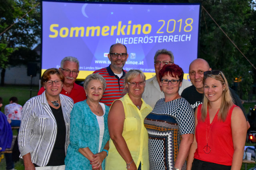
M 65 77 L 62 91 L 60 94 L 64 94 L 74 100 L 74 103 L 81 102 L 86 99 L 84 88 L 75 83 L 79 73 L 79 61 L 76 57 L 65 57 L 60 63 L 59 70 Z M 37 95 L 44 92 L 42 87 Z

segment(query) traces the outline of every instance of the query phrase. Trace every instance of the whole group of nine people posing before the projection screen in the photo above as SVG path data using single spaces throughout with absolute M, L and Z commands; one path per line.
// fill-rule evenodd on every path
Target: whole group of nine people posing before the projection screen
M 127 58 L 125 45 L 112 45 L 110 66 L 87 76 L 84 88 L 75 84 L 75 57 L 43 73 L 41 94 L 23 108 L 25 169 L 240 169 L 248 127 L 223 72 L 196 59 L 190 84 L 162 49 L 146 81 L 141 70 L 123 70 Z

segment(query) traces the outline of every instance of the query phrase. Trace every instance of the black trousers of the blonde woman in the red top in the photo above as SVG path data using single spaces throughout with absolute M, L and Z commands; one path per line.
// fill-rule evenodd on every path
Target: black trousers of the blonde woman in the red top
M 231 170 L 231 166 L 194 159 L 192 163 L 192 170 Z

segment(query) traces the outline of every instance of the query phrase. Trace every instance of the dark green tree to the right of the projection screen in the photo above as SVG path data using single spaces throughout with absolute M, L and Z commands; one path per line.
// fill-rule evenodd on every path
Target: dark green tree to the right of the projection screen
M 253 82 L 252 74 L 249 74 L 249 71 L 254 70 L 254 68 L 228 37 L 250 61 L 253 61 L 251 50 L 255 50 L 255 46 L 252 46 L 255 23 L 253 27 L 250 20 L 255 22 L 253 19 L 255 11 L 251 8 L 250 2 L 247 1 L 204 0 L 202 6 L 206 10 L 202 8 L 200 58 L 206 59 L 213 69 L 222 70 L 230 86 L 232 86 L 234 78 L 241 77 L 240 90 L 243 94 L 248 94 Z M 206 11 L 216 20 L 228 37 Z

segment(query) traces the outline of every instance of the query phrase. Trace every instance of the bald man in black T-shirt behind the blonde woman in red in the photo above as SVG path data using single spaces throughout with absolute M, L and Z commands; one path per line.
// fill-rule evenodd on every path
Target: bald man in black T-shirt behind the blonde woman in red
M 202 104 L 202 100 L 204 98 L 204 72 L 208 70 L 212 70 L 212 68 L 210 68 L 208 62 L 204 59 L 195 59 L 189 65 L 189 77 L 193 86 L 185 88 L 181 94 L 181 97 L 185 98 L 194 110 L 196 109 L 196 107 Z M 229 89 L 231 92 L 231 96 L 234 100 L 234 104 L 236 106 L 239 106 L 244 112 L 244 116 L 247 121 L 247 128 L 249 129 L 250 124 L 248 123 L 248 119 L 242 102 L 236 92 L 232 88 Z

